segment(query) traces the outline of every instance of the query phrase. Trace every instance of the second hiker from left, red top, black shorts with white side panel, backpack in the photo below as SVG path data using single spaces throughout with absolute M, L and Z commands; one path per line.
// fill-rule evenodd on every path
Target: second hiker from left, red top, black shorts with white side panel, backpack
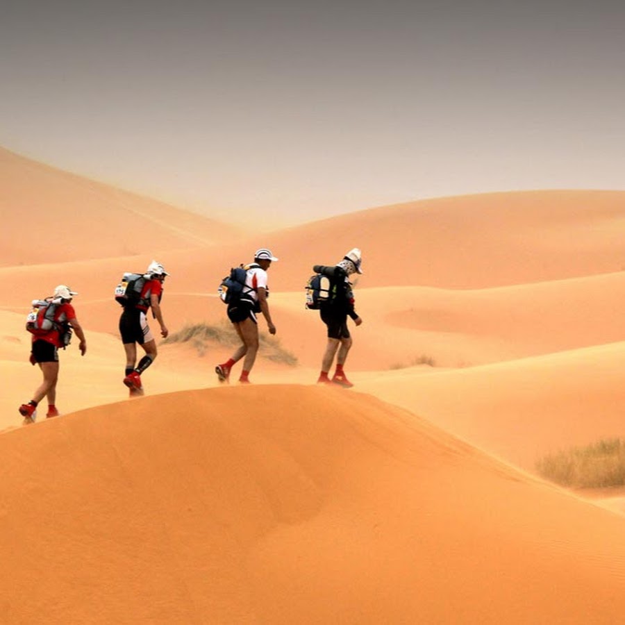
M 144 274 L 124 274 L 122 282 L 115 289 L 115 299 L 124 308 L 119 317 L 119 333 L 126 351 L 124 384 L 130 390 L 131 397 L 144 393 L 141 375 L 154 362 L 158 351 L 156 339 L 147 322 L 147 311 L 150 308 L 160 325 L 160 335 L 167 338 L 169 334 L 160 308 L 165 276 L 169 274 L 163 265 L 153 260 Z M 135 367 L 137 344 L 140 344 L 145 355 Z

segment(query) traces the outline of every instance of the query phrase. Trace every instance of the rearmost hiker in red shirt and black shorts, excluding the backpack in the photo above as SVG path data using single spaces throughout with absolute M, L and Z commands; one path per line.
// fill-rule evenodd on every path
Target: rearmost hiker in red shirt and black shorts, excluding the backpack
M 63 322 L 69 323 L 72 326 L 72 330 L 76 333 L 80 344 L 78 349 L 81 350 L 81 354 L 85 356 L 87 351 L 87 341 L 85 340 L 85 333 L 81 324 L 76 319 L 76 312 L 74 306 L 72 306 L 72 299 L 74 295 L 78 295 L 75 291 L 72 291 L 64 284 L 58 285 L 54 290 L 54 294 L 51 298 L 53 302 L 57 303 L 56 310 L 54 312 L 54 326 L 47 332 L 39 332 L 33 334 L 33 343 L 31 347 L 31 364 L 39 365 L 42 374 L 43 381 L 35 390 L 33 399 L 28 403 L 22 403 L 19 406 L 19 414 L 24 417 L 24 425 L 33 423 L 36 417 L 37 406 L 44 397 L 48 399 L 48 412 L 46 417 L 58 417 L 58 410 L 56 408 L 56 383 L 58 381 L 58 348 L 65 347 L 60 335 L 58 324 Z

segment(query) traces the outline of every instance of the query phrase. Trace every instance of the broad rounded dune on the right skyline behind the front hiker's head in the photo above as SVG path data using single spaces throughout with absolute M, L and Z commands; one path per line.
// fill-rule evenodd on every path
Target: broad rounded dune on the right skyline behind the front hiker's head
M 354 246 L 367 287 L 485 288 L 620 271 L 624 235 L 625 192 L 562 190 L 372 208 L 278 231 L 267 244 L 294 270 L 276 276 L 279 290 Z

